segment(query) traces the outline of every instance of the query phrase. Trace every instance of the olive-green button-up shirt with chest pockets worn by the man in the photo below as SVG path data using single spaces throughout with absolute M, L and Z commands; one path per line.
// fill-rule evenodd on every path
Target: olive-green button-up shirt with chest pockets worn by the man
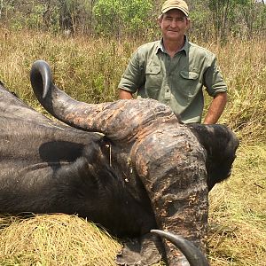
M 137 98 L 157 99 L 188 123 L 201 121 L 203 86 L 212 97 L 227 90 L 215 55 L 186 38 L 183 49 L 173 59 L 161 40 L 140 46 L 118 87 L 137 92 Z

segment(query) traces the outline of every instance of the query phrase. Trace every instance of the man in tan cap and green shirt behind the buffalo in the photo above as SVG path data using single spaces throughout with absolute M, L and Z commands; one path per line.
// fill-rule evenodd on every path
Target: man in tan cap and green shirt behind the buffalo
M 162 39 L 140 46 L 119 84 L 120 98 L 153 98 L 172 108 L 184 123 L 200 122 L 203 86 L 213 101 L 205 124 L 214 124 L 227 102 L 227 88 L 213 53 L 188 41 L 189 10 L 183 0 L 168 0 L 161 8 Z

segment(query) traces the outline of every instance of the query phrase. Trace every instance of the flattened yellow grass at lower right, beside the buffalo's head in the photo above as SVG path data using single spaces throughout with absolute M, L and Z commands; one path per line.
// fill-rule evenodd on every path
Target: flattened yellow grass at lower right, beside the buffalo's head
M 266 265 L 266 147 L 242 145 L 231 178 L 210 192 L 214 266 Z

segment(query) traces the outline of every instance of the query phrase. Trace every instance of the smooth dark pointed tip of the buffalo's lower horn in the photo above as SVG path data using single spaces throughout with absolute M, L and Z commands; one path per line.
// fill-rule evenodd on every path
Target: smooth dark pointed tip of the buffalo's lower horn
M 191 266 L 208 266 L 207 259 L 200 250 L 192 244 L 192 242 L 177 236 L 168 231 L 151 230 L 151 232 L 158 234 L 160 237 L 168 239 L 173 243 L 186 257 Z

